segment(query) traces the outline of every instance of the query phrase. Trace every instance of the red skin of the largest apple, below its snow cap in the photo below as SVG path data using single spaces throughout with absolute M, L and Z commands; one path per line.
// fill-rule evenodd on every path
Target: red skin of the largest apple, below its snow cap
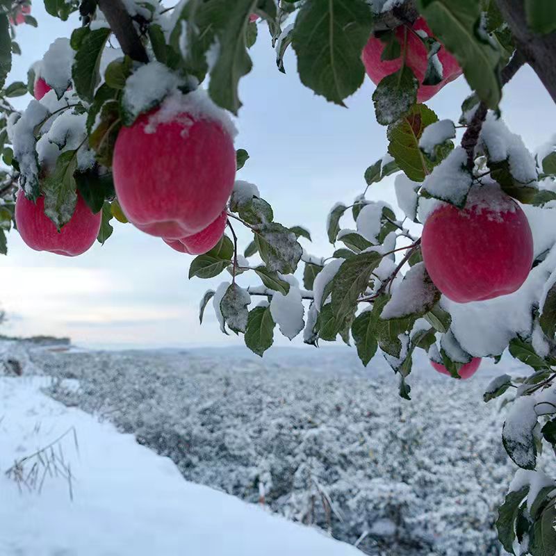
M 156 111 L 120 131 L 114 183 L 132 224 L 175 240 L 197 234 L 218 218 L 234 188 L 236 151 L 220 123 L 187 113 L 147 133 Z

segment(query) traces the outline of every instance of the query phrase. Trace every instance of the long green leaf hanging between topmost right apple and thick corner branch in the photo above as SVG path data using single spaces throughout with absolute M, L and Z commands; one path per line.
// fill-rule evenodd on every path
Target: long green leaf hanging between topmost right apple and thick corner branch
M 502 96 L 500 51 L 479 31 L 480 3 L 418 0 L 417 8 L 434 36 L 455 56 L 471 88 L 486 106 L 498 108 Z

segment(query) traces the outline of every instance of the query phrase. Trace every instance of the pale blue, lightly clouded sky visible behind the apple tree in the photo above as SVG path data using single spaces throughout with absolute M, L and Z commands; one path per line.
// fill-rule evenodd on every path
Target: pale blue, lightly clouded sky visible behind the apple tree
M 39 28 L 20 26 L 23 54 L 15 56 L 10 81 L 26 80 L 26 72 L 58 36 L 69 36 L 72 22 L 60 22 L 33 4 Z M 75 19 L 73 20 L 75 22 Z M 386 129 L 375 122 L 374 85 L 363 87 L 347 101 L 349 108 L 328 104 L 301 85 L 295 56 L 286 56 L 285 76 L 278 72 L 264 24 L 251 51 L 254 70 L 243 79 L 244 106 L 236 122 L 236 147 L 251 158 L 238 173 L 259 186 L 273 206 L 275 219 L 311 230 L 309 252 L 331 254 L 325 234 L 329 208 L 336 201 L 350 204 L 363 190 L 366 167 L 386 152 Z M 463 78 L 451 83 L 427 103 L 441 118 L 459 117 L 468 95 Z M 24 108 L 28 97 L 17 99 Z M 505 90 L 502 112 L 510 129 L 534 150 L 555 133 L 556 108 L 529 68 L 518 72 Z M 373 186 L 370 198 L 395 203 L 393 179 Z M 345 227 L 352 224 L 346 222 Z M 245 240 L 247 236 L 243 236 Z M 243 243 L 245 247 L 246 243 Z M 174 252 L 161 240 L 131 225 L 115 224 L 115 233 L 101 247 L 68 259 L 30 250 L 16 232 L 8 238 L 8 257 L 0 259 L 10 334 L 71 336 L 81 345 L 141 347 L 229 345 L 243 338 L 224 336 L 211 307 L 199 327 L 197 306 L 206 288 L 227 275 L 202 281 L 187 279 L 191 257 Z M 277 336 L 280 345 L 288 340 Z

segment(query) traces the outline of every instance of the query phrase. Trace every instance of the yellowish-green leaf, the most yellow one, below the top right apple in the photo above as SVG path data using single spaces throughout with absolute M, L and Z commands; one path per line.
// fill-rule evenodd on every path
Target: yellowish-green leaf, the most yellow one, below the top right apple
M 434 163 L 419 148 L 419 140 L 425 127 L 437 121 L 438 117 L 430 108 L 417 104 L 388 127 L 388 152 L 413 181 L 423 181 L 434 167 Z

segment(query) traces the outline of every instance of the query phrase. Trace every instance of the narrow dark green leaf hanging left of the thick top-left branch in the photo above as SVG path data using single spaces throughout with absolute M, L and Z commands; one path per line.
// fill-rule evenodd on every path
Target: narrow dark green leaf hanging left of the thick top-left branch
M 110 32 L 106 27 L 91 31 L 83 38 L 75 54 L 72 79 L 77 94 L 89 102 L 92 102 L 95 88 L 100 81 L 100 60 Z

